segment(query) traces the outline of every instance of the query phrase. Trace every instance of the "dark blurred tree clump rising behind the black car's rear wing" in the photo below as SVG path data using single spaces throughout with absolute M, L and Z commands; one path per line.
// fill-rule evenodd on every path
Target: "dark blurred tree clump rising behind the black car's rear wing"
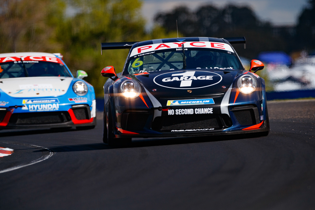
M 155 16 L 156 23 L 166 31 L 176 30 L 175 20 L 180 20 L 178 30 L 187 37 L 244 36 L 247 49 L 243 45 L 234 47 L 239 55 L 250 59 L 255 59 L 261 51 L 288 50 L 285 40 L 273 36 L 271 24 L 260 21 L 247 6 L 226 5 L 218 9 L 209 4 L 196 12 L 182 6 Z

